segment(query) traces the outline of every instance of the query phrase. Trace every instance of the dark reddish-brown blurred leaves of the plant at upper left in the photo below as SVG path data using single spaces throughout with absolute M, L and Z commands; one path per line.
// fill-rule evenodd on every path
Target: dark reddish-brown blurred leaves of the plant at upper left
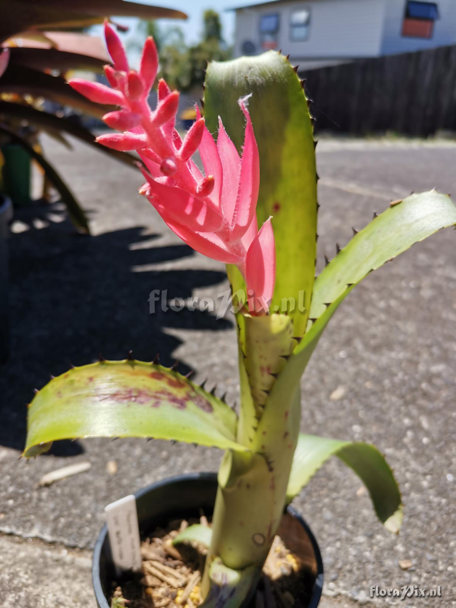
M 22 148 L 41 167 L 43 199 L 49 199 L 52 183 L 75 227 L 86 233 L 89 227 L 85 213 L 56 168 L 46 160 L 38 140 L 45 132 L 71 148 L 65 138 L 69 134 L 112 156 L 112 150 L 96 142 L 80 117 L 82 113 L 101 117 L 111 108 L 90 102 L 66 83 L 69 71 L 94 72 L 95 78 L 95 73 L 109 63 L 103 43 L 81 32 L 110 15 L 140 19 L 186 19 L 187 15 L 123 0 L 0 0 L 0 15 L 0 43 L 5 47 L 0 47 L 0 145 Z M 116 27 L 125 30 L 119 24 Z M 3 156 L 2 173 L 11 183 L 23 186 L 29 164 L 24 164 L 21 173 L 12 155 Z M 117 152 L 116 158 L 134 164 L 130 154 Z M 0 192 L 4 187 L 0 183 Z

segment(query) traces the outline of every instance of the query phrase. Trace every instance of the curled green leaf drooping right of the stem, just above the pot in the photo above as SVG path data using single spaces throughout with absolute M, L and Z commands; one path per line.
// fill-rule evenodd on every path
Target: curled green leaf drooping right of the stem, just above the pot
M 401 493 L 387 461 L 368 443 L 300 434 L 288 481 L 288 500 L 299 494 L 332 455 L 339 457 L 361 478 L 379 519 L 387 530 L 397 534 L 402 522 Z

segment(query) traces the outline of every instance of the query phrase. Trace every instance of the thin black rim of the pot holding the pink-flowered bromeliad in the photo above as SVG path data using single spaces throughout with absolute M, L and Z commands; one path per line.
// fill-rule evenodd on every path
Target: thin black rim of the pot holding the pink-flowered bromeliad
M 158 482 L 151 483 L 150 485 L 145 486 L 145 488 L 141 488 L 137 492 L 134 492 L 134 497 L 138 499 L 144 496 L 144 494 L 148 494 L 148 492 L 162 488 L 163 486 L 171 485 L 176 482 L 181 482 L 184 480 L 191 482 L 198 481 L 200 479 L 214 480 L 216 482 L 217 474 L 210 472 L 201 472 L 175 475 L 174 477 L 166 477 L 165 479 L 161 479 Z M 317 544 L 314 534 L 312 533 L 311 529 L 308 527 L 302 516 L 292 506 L 288 506 L 287 511 L 292 517 L 295 517 L 295 519 L 297 519 L 302 525 L 307 536 L 309 537 L 309 541 L 311 542 L 311 545 L 314 550 L 315 559 L 317 562 L 317 574 L 315 578 L 311 601 L 308 605 L 308 608 L 317 608 L 318 604 L 320 603 L 320 598 L 323 590 L 323 560 L 320 554 L 320 548 Z M 103 543 L 105 542 L 107 534 L 108 526 L 105 523 L 105 525 L 103 525 L 102 529 L 100 530 L 100 534 L 98 534 L 97 541 L 95 541 L 94 556 L 92 558 L 92 583 L 94 586 L 95 596 L 102 608 L 109 608 L 109 604 L 106 600 L 105 592 L 103 591 L 102 582 L 100 579 L 100 557 L 102 554 Z

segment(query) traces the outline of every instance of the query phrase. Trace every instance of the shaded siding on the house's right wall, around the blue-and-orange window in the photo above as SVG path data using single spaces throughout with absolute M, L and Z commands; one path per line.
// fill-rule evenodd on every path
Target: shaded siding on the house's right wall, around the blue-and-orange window
M 387 10 L 381 46 L 382 55 L 406 53 L 456 44 L 456 0 L 432 0 L 438 6 L 440 19 L 435 21 L 432 38 L 409 38 L 401 35 L 406 0 L 386 0 Z

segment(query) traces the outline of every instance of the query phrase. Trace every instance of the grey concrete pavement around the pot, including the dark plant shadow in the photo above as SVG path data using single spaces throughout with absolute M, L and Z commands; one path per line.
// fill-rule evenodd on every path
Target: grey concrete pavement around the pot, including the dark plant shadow
M 89 559 L 103 506 L 154 480 L 213 471 L 213 449 L 162 441 L 55 444 L 26 464 L 26 402 L 49 373 L 106 358 L 161 353 L 179 371 L 217 382 L 237 398 L 235 332 L 207 313 L 149 314 L 152 289 L 168 297 L 226 289 L 221 264 L 184 246 L 145 199 L 130 168 L 74 144 L 46 141 L 50 160 L 89 211 L 94 237 L 75 235 L 61 206 L 21 210 L 10 242 L 12 358 L 0 369 L 0 597 L 5 607 L 95 606 Z M 319 267 L 351 226 L 414 190 L 456 193 L 456 146 L 447 142 L 323 140 L 319 174 Z M 372 441 L 395 470 L 404 523 L 393 537 L 376 520 L 358 478 L 336 459 L 296 506 L 325 562 L 323 608 L 369 603 L 371 586 L 441 586 L 441 598 L 401 606 L 456 605 L 456 241 L 440 232 L 370 275 L 340 306 L 303 378 L 302 430 Z M 165 272 L 166 271 L 166 272 Z M 91 469 L 49 488 L 45 472 L 78 460 Z M 111 475 L 106 463 L 116 460 Z M 33 541 L 27 539 L 33 538 Z M 398 561 L 410 559 L 403 571 Z M 5 599 L 6 598 L 6 599 Z M 372 598 L 373 606 L 393 598 Z

